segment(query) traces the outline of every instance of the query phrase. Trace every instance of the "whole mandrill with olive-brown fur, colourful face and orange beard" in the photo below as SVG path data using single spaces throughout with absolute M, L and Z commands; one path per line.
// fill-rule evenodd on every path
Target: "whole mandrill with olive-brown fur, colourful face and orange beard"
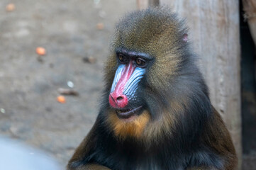
M 169 8 L 125 16 L 99 115 L 67 169 L 235 169 L 233 142 L 196 64 L 187 28 Z

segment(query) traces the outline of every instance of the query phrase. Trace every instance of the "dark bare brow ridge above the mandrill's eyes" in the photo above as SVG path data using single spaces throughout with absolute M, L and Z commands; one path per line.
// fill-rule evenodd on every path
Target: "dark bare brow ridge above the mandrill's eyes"
M 124 47 L 116 48 L 116 54 L 122 54 L 122 55 L 125 55 L 126 57 L 140 57 L 147 61 L 154 60 L 154 57 L 148 55 L 145 52 L 135 52 L 133 50 L 127 50 Z

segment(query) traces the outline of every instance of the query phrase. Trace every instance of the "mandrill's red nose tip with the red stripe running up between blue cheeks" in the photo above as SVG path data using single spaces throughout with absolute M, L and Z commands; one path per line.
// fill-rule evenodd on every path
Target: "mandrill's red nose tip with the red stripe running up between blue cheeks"
M 126 86 L 126 82 L 130 79 L 130 76 L 133 74 L 135 67 L 133 67 L 133 62 L 130 62 L 126 65 L 125 69 L 123 70 L 123 74 L 119 79 L 118 83 L 116 84 L 116 88 L 114 91 L 109 95 L 109 103 L 114 108 L 124 108 L 128 104 L 128 98 L 126 95 L 123 94 L 123 89 Z

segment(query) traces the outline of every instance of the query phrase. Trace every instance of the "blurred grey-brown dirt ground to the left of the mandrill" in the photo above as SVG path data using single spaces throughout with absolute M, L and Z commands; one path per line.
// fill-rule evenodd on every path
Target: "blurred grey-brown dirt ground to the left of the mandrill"
M 8 12 L 9 3 L 0 1 L 0 135 L 45 151 L 64 169 L 96 119 L 115 23 L 136 4 L 13 0 L 16 8 Z M 47 55 L 38 57 L 36 47 Z M 69 88 L 68 81 L 79 96 L 58 103 L 57 89 Z M 254 167 L 251 158 L 245 155 Z

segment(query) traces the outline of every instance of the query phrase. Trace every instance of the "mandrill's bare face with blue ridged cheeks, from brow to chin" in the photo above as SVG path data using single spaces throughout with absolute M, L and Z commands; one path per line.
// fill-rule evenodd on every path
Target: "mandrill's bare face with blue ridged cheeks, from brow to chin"
M 145 106 L 140 86 L 153 58 L 143 52 L 133 52 L 125 48 L 116 49 L 118 68 L 113 79 L 109 104 L 122 120 L 131 120 L 140 115 Z

